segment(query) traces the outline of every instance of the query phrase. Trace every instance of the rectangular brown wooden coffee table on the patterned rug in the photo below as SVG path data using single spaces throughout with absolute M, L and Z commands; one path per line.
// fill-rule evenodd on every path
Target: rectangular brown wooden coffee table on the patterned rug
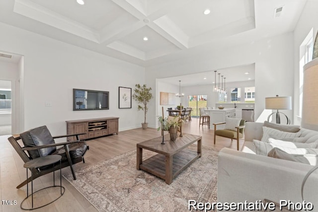
M 175 141 L 170 141 L 166 136 L 165 144 L 161 144 L 162 137 L 137 143 L 137 169 L 145 170 L 157 177 L 164 179 L 165 183 L 171 184 L 183 169 L 188 167 L 194 160 L 202 156 L 202 137 L 183 134 Z M 198 150 L 193 151 L 187 146 L 198 142 Z M 143 161 L 143 149 L 158 152 L 147 160 Z

